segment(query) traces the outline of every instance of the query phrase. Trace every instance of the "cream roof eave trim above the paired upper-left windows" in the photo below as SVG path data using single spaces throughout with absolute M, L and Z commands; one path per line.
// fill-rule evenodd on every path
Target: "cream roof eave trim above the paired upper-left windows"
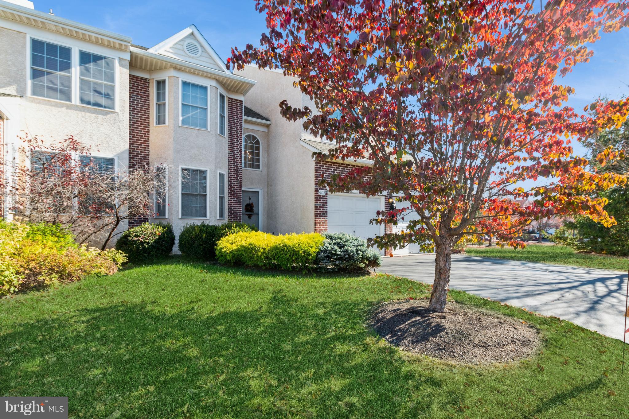
M 103 45 L 128 51 L 131 45 L 129 36 L 120 35 L 87 24 L 78 23 L 69 19 L 60 18 L 53 14 L 18 6 L 0 0 L 0 18 L 29 24 L 45 30 L 63 33 L 86 41 L 101 43 Z

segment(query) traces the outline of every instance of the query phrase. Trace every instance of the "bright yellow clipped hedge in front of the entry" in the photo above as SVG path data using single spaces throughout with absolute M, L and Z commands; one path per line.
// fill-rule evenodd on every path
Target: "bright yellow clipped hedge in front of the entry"
M 224 264 L 304 271 L 316 266 L 323 244 L 318 233 L 274 236 L 264 232 L 240 232 L 216 244 L 216 258 Z

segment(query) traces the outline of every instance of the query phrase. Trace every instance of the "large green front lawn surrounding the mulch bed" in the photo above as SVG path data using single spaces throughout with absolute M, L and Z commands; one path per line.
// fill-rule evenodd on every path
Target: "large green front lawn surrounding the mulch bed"
M 19 295 L 0 300 L 0 395 L 68 396 L 74 418 L 626 417 L 621 342 L 569 322 L 452 292 L 540 329 L 533 359 L 491 367 L 365 329 L 377 303 L 427 289 L 175 259 Z

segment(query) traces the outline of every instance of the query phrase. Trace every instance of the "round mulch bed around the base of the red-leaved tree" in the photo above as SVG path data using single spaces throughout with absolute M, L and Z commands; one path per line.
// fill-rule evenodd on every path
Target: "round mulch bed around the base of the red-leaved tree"
M 383 303 L 370 326 L 403 351 L 460 364 L 512 362 L 540 347 L 537 329 L 516 318 L 454 302 L 444 313 L 427 307 L 428 300 Z

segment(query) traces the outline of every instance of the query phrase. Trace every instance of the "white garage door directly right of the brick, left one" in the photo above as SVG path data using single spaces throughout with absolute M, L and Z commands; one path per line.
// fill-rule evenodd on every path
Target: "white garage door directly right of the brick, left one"
M 369 224 L 380 209 L 381 198 L 362 195 L 328 195 L 328 231 L 346 232 L 366 239 L 380 234 L 378 224 Z

